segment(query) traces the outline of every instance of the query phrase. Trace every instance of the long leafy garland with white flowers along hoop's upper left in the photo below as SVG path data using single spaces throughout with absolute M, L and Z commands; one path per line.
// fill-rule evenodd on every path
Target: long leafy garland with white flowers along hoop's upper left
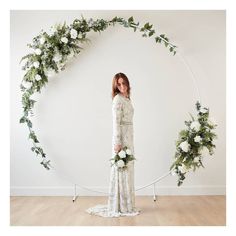
M 101 32 L 108 26 L 120 24 L 126 28 L 132 28 L 134 32 L 139 30 L 142 37 L 152 37 L 155 34 L 153 25 L 145 23 L 139 27 L 139 22 L 135 22 L 133 17 L 125 20 L 121 17 L 114 17 L 107 21 L 103 19 L 86 20 L 83 15 L 81 19 L 75 19 L 72 24 L 56 24 L 52 26 L 48 32 L 41 30 L 40 34 L 33 38 L 31 44 L 27 44 L 33 52 L 22 57 L 22 69 L 26 71 L 23 76 L 20 89 L 22 94 L 23 116 L 20 123 L 25 123 L 29 129 L 29 139 L 32 140 L 33 146 L 31 150 L 39 157 L 47 170 L 50 169 L 50 160 L 46 158 L 46 154 L 42 147 L 39 146 L 39 140 L 32 129 L 32 121 L 29 115 L 33 115 L 33 107 L 35 100 L 31 96 L 38 92 L 48 83 L 48 78 L 55 73 L 65 69 L 66 63 L 71 58 L 78 55 L 83 49 L 81 45 L 90 41 L 87 33 L 90 31 Z M 177 46 L 171 44 L 165 34 L 156 35 L 156 43 L 164 43 L 173 55 L 176 54 Z

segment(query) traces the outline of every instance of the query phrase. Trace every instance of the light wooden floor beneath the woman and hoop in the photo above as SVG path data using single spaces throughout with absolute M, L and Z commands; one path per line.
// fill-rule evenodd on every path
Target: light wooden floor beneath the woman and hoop
M 137 196 L 141 214 L 103 218 L 88 207 L 106 204 L 106 197 L 11 197 L 11 225 L 23 226 L 173 226 L 226 224 L 225 196 Z

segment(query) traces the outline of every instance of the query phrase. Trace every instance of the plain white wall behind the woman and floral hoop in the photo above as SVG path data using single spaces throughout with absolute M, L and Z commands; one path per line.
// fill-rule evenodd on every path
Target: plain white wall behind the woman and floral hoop
M 49 81 L 37 96 L 33 129 L 58 169 L 46 171 L 30 151 L 22 115 L 19 84 L 22 56 L 41 29 L 75 18 L 112 19 L 134 16 L 166 33 L 194 72 L 202 104 L 218 123 L 215 155 L 205 169 L 187 176 L 182 187 L 169 176 L 159 194 L 225 194 L 225 12 L 224 11 L 11 11 L 11 195 L 71 195 L 73 183 L 107 191 L 111 156 L 112 77 L 130 79 L 134 106 L 135 183 L 143 186 L 166 173 L 174 141 L 195 113 L 192 76 L 176 55 L 122 26 L 89 33 L 91 43 L 67 70 Z M 63 177 L 64 176 L 64 177 Z M 79 190 L 82 195 L 96 193 Z M 137 194 L 151 194 L 150 188 Z

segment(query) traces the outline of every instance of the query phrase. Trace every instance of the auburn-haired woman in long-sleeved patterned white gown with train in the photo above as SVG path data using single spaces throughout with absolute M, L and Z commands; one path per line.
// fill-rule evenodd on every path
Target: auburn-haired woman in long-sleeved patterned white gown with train
M 130 85 L 124 73 L 114 76 L 112 82 L 112 156 L 127 146 L 135 157 L 133 145 L 134 108 L 130 100 Z M 140 210 L 135 207 L 134 161 L 126 169 L 111 167 L 107 205 L 97 205 L 86 210 L 103 217 L 135 216 Z

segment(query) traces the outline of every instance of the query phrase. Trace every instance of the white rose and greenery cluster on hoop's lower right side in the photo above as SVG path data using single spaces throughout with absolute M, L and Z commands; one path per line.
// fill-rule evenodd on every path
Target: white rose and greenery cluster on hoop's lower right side
M 196 109 L 197 117 L 190 114 L 192 119 L 185 121 L 187 128 L 180 131 L 176 141 L 175 160 L 170 170 L 178 176 L 178 186 L 183 183 L 187 172 L 204 167 L 203 158 L 212 155 L 216 147 L 214 139 L 217 135 L 213 131 L 217 124 L 209 117 L 209 108 L 201 107 L 197 102 Z

